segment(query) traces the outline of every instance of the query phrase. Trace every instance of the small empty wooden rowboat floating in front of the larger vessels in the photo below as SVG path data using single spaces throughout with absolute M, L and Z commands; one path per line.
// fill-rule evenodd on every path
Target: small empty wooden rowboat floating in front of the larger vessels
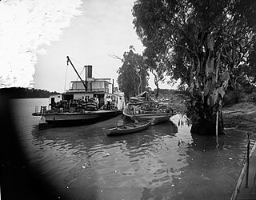
M 113 126 L 105 128 L 107 136 L 118 136 L 122 134 L 133 134 L 141 130 L 146 130 L 151 125 L 151 121 L 135 122 L 131 124 L 124 124 L 121 126 Z

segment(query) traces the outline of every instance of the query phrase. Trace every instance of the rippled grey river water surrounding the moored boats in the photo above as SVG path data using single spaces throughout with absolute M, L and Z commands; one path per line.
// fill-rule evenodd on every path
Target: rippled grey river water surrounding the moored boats
M 246 155 L 247 134 L 218 138 L 190 134 L 175 115 L 135 134 L 107 137 L 93 125 L 38 130 L 36 105 L 47 98 L 15 99 L 18 137 L 30 166 L 69 199 L 230 199 Z

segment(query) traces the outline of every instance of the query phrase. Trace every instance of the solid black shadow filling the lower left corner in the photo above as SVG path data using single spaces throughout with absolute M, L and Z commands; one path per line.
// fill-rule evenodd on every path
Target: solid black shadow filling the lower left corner
M 58 199 L 54 186 L 31 168 L 11 110 L 10 98 L 0 95 L 2 199 Z

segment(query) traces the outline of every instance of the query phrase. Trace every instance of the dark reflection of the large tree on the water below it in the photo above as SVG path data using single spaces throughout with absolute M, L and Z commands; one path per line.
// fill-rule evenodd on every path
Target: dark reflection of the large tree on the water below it
M 174 176 L 170 198 L 228 199 L 234 190 L 242 161 L 234 151 L 216 150 L 214 138 L 192 135 L 193 143 L 186 150 L 187 166 L 180 176 Z M 220 138 L 225 146 L 229 142 Z M 182 190 L 181 190 L 182 188 Z M 186 191 L 186 192 L 185 192 Z

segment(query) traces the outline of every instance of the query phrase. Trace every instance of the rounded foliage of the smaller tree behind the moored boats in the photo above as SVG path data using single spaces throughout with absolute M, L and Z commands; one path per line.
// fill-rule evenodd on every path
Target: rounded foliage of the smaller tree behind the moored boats
M 118 74 L 118 86 L 126 98 L 142 93 L 148 86 L 149 74 L 144 59 L 142 55 L 134 53 L 133 46 L 123 54 Z

